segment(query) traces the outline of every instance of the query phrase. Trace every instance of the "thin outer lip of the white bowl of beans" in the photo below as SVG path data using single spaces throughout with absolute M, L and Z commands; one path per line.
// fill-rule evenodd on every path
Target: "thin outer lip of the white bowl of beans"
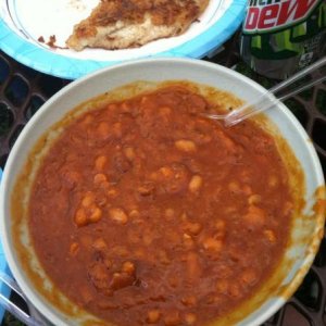
M 102 70 L 96 71 L 87 76 L 84 76 L 79 79 L 76 79 L 74 82 L 72 82 L 71 84 L 68 84 L 67 86 L 63 87 L 61 90 L 59 90 L 54 96 L 52 96 L 47 102 L 45 102 L 41 108 L 35 113 L 35 115 L 30 118 L 30 121 L 26 124 L 26 126 L 24 127 L 24 129 L 22 130 L 21 135 L 18 136 L 17 140 L 15 141 L 11 153 L 8 158 L 7 161 L 7 165 L 4 167 L 3 171 L 3 178 L 2 178 L 2 183 L 0 185 L 0 213 L 2 213 L 3 216 L 5 216 L 5 199 L 9 198 L 10 196 L 5 192 L 7 191 L 7 187 L 8 184 L 10 183 L 10 178 L 11 175 L 14 174 L 14 161 L 16 160 L 16 156 L 18 155 L 18 151 L 22 147 L 24 147 L 24 142 L 25 142 L 25 138 L 26 136 L 28 136 L 29 133 L 32 133 L 34 125 L 42 120 L 43 115 L 47 114 L 47 111 L 50 110 L 50 108 L 55 103 L 57 100 L 59 100 L 62 96 L 70 93 L 73 89 L 79 87 L 83 84 L 87 84 L 90 80 L 93 80 L 95 78 L 101 76 L 101 75 L 106 75 L 110 72 L 112 72 L 113 70 L 121 70 L 121 68 L 125 68 L 128 66 L 133 66 L 133 65 L 148 65 L 148 64 L 170 64 L 170 63 L 176 63 L 176 64 L 188 64 L 188 65 L 198 65 L 198 66 L 205 66 L 210 70 L 212 70 L 213 72 L 223 72 L 225 74 L 227 74 L 228 76 L 231 77 L 236 77 L 237 79 L 239 79 L 240 82 L 246 83 L 248 86 L 254 88 L 258 91 L 265 91 L 265 88 L 262 87 L 260 84 L 258 84 L 256 82 L 241 75 L 238 72 L 235 72 L 230 68 L 227 68 L 225 66 L 215 64 L 215 63 L 211 63 L 211 62 L 205 62 L 202 60 L 198 60 L 198 59 L 175 59 L 175 58 L 151 58 L 151 59 L 138 59 L 135 61 L 128 61 L 128 62 L 123 62 L 121 64 L 114 65 L 114 66 L 108 66 L 104 67 Z M 171 78 L 174 79 L 174 78 Z M 196 83 L 196 82 L 195 82 Z M 200 84 L 200 82 L 199 82 Z M 304 128 L 302 127 L 302 125 L 299 123 L 299 121 L 296 118 L 296 116 L 287 109 L 287 106 L 285 106 L 283 103 L 279 103 L 278 105 L 281 106 L 281 114 L 285 115 L 285 118 L 287 118 L 289 121 L 289 123 L 291 123 L 293 125 L 293 127 L 296 128 L 296 130 L 298 131 L 298 136 L 302 137 L 302 139 L 308 139 L 309 136 L 306 135 L 306 131 L 304 130 Z M 74 109 L 74 108 L 72 108 Z M 64 116 L 65 113 L 61 113 L 61 118 Z M 53 124 L 57 121 L 53 121 Z M 42 130 L 42 133 L 45 133 L 45 130 Z M 317 156 L 316 150 L 313 146 L 312 141 L 305 141 L 304 142 L 306 146 L 306 150 L 309 151 L 310 154 L 310 159 L 311 162 L 313 164 L 313 166 L 315 167 L 314 170 L 314 174 L 316 177 L 316 180 L 318 183 L 318 185 L 324 186 L 325 185 L 325 180 L 324 180 L 324 174 L 323 174 L 323 170 L 321 166 L 321 162 Z M 30 150 L 30 148 L 28 149 Z M 28 151 L 27 151 L 28 152 Z M 317 185 L 317 186 L 318 186 Z M 326 199 L 326 198 L 325 198 Z M 8 204 L 9 205 L 9 204 Z M 324 215 L 324 214 L 322 214 Z M 46 317 L 48 317 L 51 322 L 54 323 L 54 325 L 66 325 L 63 319 L 61 317 L 58 316 L 58 314 L 55 313 L 55 308 L 52 306 L 51 303 L 49 303 L 50 308 L 48 304 L 46 304 L 42 300 L 39 299 L 38 296 L 40 296 L 39 293 L 35 293 L 38 292 L 36 291 L 33 287 L 30 288 L 30 286 L 28 285 L 28 283 L 26 281 L 26 276 L 23 274 L 23 272 L 20 271 L 18 268 L 18 264 L 17 262 L 15 262 L 14 256 L 13 256 L 13 251 L 14 249 L 10 248 L 10 231 L 8 231 L 10 229 L 10 222 L 7 222 L 8 218 L 0 218 L 0 235 L 1 235 L 1 239 L 2 239 L 2 243 L 3 243 L 3 251 L 9 264 L 10 269 L 12 271 L 12 274 L 14 275 L 15 279 L 17 280 L 17 284 L 20 285 L 20 287 L 22 288 L 23 292 L 26 294 L 27 299 L 33 302 L 33 304 L 35 304 L 36 309 L 38 309 L 42 314 L 45 314 Z M 323 221 L 322 221 L 323 220 Z M 319 222 L 324 224 L 324 220 L 325 216 L 319 216 Z M 312 239 L 312 242 L 314 242 L 315 244 L 321 243 L 321 239 Z M 309 243 L 309 247 L 311 247 L 313 243 Z M 302 268 L 302 266 L 311 266 L 311 264 L 313 263 L 314 256 L 315 256 L 316 252 L 310 252 L 305 255 L 299 271 Z M 290 281 L 290 284 L 292 283 L 297 283 L 298 286 L 300 285 L 301 280 L 303 279 L 303 277 L 305 276 L 304 274 L 297 274 Z M 298 287 L 293 288 L 292 291 L 288 292 L 289 297 L 293 294 L 293 292 L 297 290 Z M 261 323 L 265 322 L 268 317 L 271 317 L 279 308 L 281 308 L 281 305 L 285 304 L 286 300 L 289 298 L 285 298 L 284 297 L 277 297 L 277 300 L 275 300 L 264 312 L 260 313 L 258 316 L 254 317 L 254 323 L 251 322 L 250 325 L 260 325 Z M 251 312 L 249 313 L 246 317 L 244 317 L 244 322 L 248 317 L 250 317 L 252 314 L 254 313 Z M 242 321 L 240 322 L 240 324 L 242 325 Z M 246 324 L 246 323 L 244 323 Z M 244 325 L 243 324 L 243 325 Z M 247 325 L 247 324 L 246 324 Z

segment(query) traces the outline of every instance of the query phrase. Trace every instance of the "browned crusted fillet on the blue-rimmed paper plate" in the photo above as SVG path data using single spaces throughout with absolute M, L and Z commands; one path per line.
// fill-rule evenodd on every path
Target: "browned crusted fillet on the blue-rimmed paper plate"
M 101 0 L 74 26 L 68 48 L 127 49 L 183 34 L 210 0 Z

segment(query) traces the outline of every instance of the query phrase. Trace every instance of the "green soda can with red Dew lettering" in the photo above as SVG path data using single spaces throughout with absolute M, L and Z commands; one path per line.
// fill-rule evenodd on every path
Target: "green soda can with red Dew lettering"
M 240 53 L 255 72 L 285 79 L 326 55 L 326 0 L 249 0 Z

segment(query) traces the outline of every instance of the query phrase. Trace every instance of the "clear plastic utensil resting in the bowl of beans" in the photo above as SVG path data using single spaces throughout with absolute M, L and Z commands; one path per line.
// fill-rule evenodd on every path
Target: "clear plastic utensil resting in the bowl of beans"
M 292 97 L 293 95 L 312 87 L 313 85 L 316 85 L 318 83 L 322 83 L 323 80 L 326 80 L 326 73 L 324 73 L 324 74 L 322 74 L 322 77 L 318 77 L 317 79 L 314 79 L 314 80 L 309 80 L 305 84 L 301 84 L 297 88 L 288 90 L 281 96 L 277 97 L 277 95 L 276 95 L 278 91 L 284 90 L 289 85 L 292 85 L 293 83 L 300 80 L 302 77 L 323 67 L 324 65 L 326 65 L 326 57 L 319 59 L 312 65 L 303 68 L 302 71 L 294 74 L 290 78 L 269 88 L 269 90 L 267 90 L 263 95 L 259 96 L 253 101 L 247 102 L 246 104 L 241 105 L 240 108 L 238 108 L 227 114 L 204 113 L 204 116 L 212 118 L 212 120 L 223 120 L 225 126 L 234 126 L 234 125 L 240 123 L 241 121 L 243 121 L 254 114 L 258 114 L 259 112 L 271 109 L 272 106 L 276 106 L 279 103 L 279 101 L 284 101 L 284 100 Z

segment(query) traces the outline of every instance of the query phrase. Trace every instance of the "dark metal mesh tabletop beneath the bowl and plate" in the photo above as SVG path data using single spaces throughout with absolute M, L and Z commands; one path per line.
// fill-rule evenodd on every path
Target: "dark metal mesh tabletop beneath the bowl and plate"
M 241 62 L 238 54 L 238 35 L 227 41 L 221 52 L 203 60 L 235 66 L 237 71 L 267 88 L 276 83 L 259 76 Z M 4 167 L 8 154 L 28 120 L 47 99 L 68 83 L 70 80 L 28 68 L 0 51 L 0 167 Z M 312 138 L 326 175 L 326 83 L 290 98 L 285 103 Z M 7 313 L 2 325 L 22 324 Z M 300 288 L 288 303 L 263 325 L 326 326 L 325 237 Z

